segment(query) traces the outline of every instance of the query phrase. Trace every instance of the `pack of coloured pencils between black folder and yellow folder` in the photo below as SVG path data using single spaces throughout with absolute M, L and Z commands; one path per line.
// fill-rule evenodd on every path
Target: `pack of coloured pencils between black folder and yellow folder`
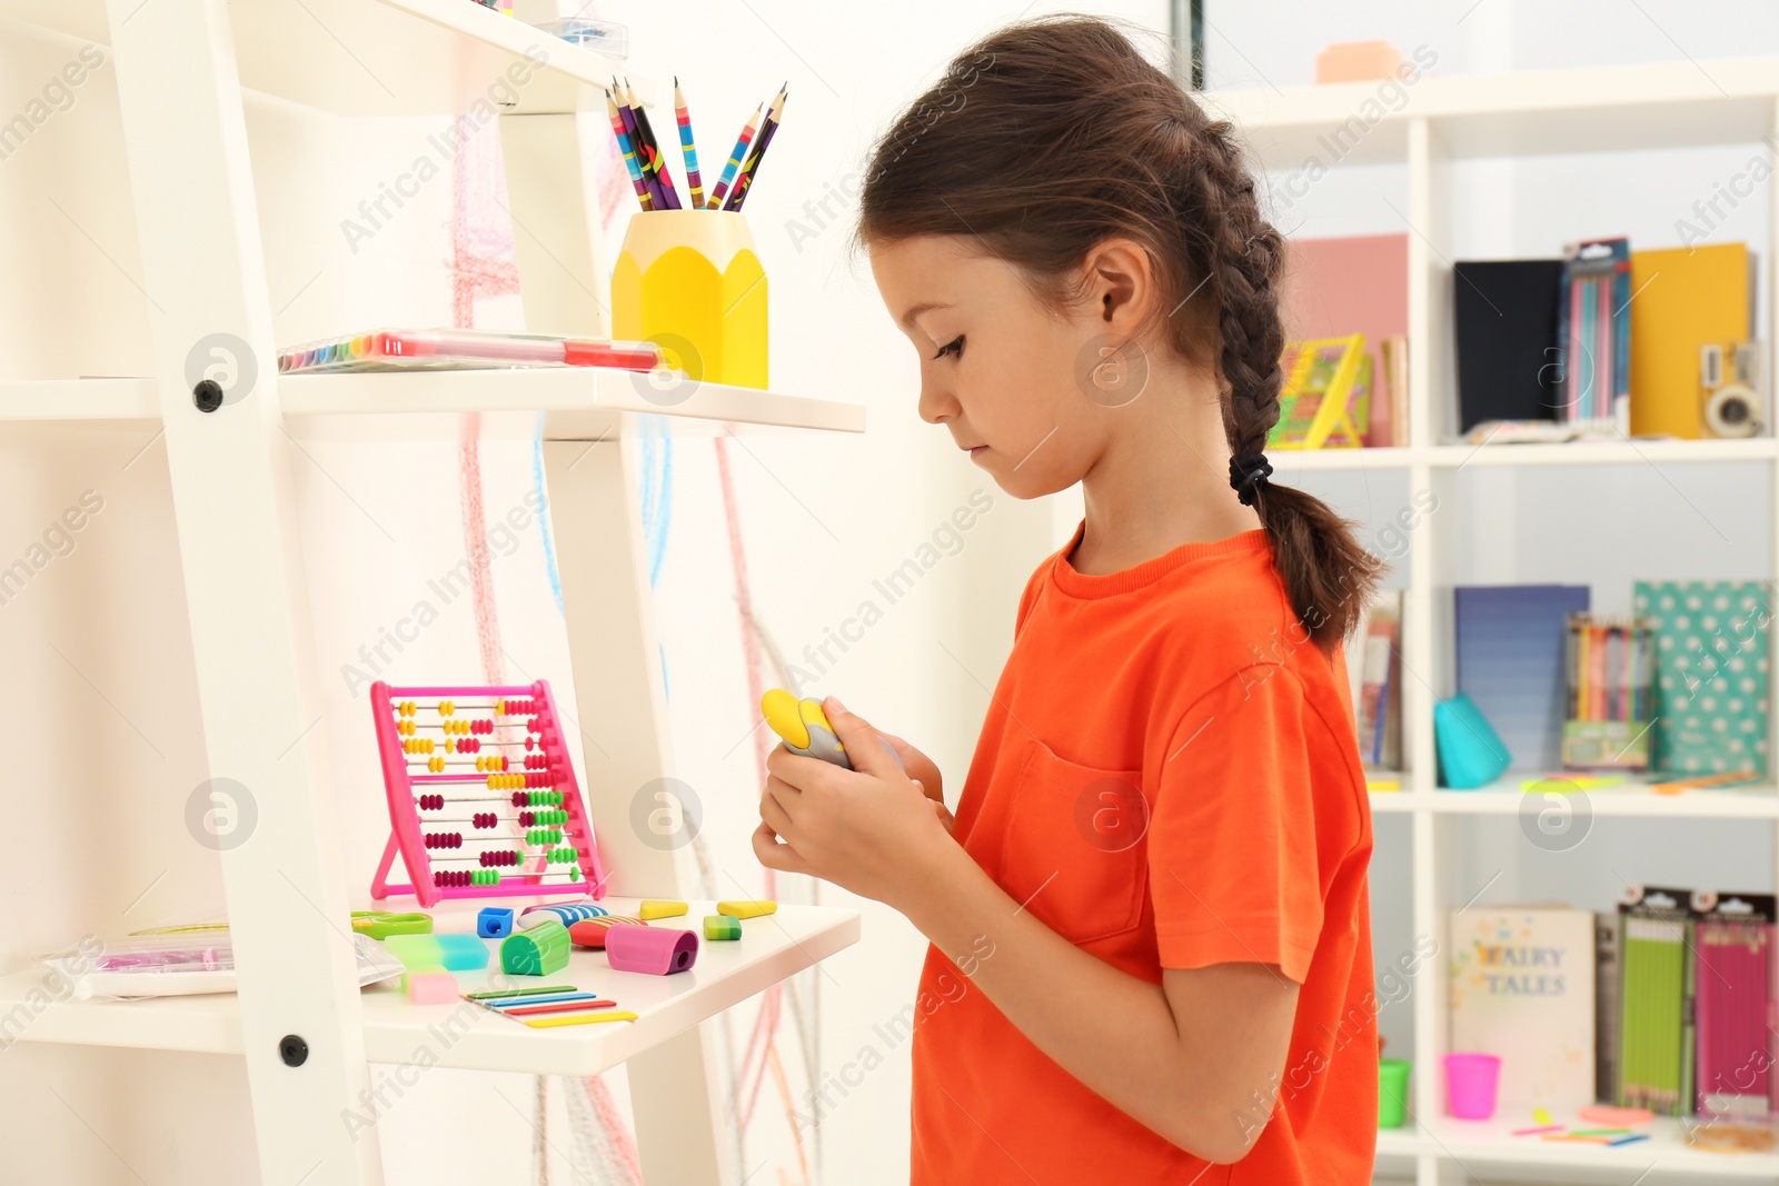
M 1631 240 L 1594 238 L 1564 247 L 1557 301 L 1562 389 L 1557 420 L 1630 430 Z

